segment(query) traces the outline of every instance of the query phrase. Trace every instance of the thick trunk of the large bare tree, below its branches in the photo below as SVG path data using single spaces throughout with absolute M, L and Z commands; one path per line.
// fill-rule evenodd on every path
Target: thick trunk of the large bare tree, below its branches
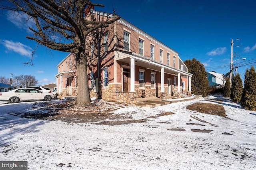
M 80 56 L 78 56 L 80 55 Z M 88 73 L 86 56 L 82 53 L 76 56 L 76 69 L 78 75 L 78 93 L 75 103 L 79 105 L 90 105 L 90 93 L 88 86 Z

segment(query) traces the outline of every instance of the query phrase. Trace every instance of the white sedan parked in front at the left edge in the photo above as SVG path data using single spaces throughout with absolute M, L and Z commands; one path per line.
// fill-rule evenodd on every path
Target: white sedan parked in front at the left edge
M 0 101 L 10 101 L 17 103 L 19 101 L 50 101 L 54 98 L 52 93 L 46 93 L 32 88 L 20 88 L 0 93 Z

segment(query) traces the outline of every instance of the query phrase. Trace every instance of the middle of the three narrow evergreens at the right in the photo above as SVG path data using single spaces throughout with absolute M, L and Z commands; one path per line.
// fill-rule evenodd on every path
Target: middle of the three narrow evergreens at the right
M 239 103 L 241 101 L 242 91 L 243 82 L 240 77 L 240 74 L 237 74 L 232 81 L 230 99 L 235 103 Z

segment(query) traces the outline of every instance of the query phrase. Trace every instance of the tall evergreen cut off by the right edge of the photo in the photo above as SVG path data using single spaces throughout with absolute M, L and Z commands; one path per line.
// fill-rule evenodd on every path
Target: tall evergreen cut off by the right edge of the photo
M 256 72 L 253 66 L 246 69 L 241 105 L 245 109 L 256 111 Z

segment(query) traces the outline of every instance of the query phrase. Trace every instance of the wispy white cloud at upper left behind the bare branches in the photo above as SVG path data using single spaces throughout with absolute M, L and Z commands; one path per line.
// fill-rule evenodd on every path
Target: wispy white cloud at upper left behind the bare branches
M 18 28 L 24 28 L 28 30 L 29 27 L 30 28 L 35 27 L 34 19 L 24 13 L 22 14 L 19 12 L 8 11 L 7 20 L 12 22 Z

